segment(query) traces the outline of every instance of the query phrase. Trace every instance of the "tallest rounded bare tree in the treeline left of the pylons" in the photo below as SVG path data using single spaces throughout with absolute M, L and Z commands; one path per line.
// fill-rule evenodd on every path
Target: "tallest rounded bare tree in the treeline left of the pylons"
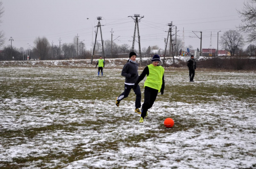
M 35 51 L 40 57 L 40 60 L 46 60 L 49 56 L 50 43 L 46 37 L 37 37 L 34 41 Z

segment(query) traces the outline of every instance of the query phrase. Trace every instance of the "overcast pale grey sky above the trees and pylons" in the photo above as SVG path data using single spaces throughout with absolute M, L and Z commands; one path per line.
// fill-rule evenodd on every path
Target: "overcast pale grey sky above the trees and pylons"
M 177 26 L 178 38 L 183 39 L 184 29 L 185 46 L 200 48 L 200 39 L 192 31 L 202 31 L 202 48 L 210 48 L 210 43 L 211 48 L 217 48 L 218 31 L 221 31 L 220 41 L 225 31 L 237 29 L 241 23 L 237 10 L 241 10 L 246 1 L 2 0 L 5 13 L 0 29 L 5 33 L 6 46 L 11 44 L 10 37 L 14 39 L 13 46 L 27 49 L 29 45 L 34 46 L 36 37 L 45 36 L 51 44 L 59 45 L 59 40 L 61 44 L 73 42 L 78 34 L 79 40 L 84 40 L 89 50 L 91 42 L 95 41 L 97 17 L 101 16 L 104 41 L 111 40 L 113 29 L 113 39 L 117 38 L 115 43 L 132 46 L 135 23 L 128 16 L 140 14 L 144 16 L 139 22 L 141 48 L 158 45 L 164 49 L 167 24 L 171 21 Z M 200 33 L 197 35 L 200 37 Z M 138 49 L 138 43 L 135 43 L 135 48 Z

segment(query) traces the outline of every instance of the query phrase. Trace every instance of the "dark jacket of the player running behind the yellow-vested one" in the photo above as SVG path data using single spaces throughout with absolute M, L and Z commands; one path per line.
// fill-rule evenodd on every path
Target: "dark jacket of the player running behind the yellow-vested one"
M 139 78 L 139 65 L 134 62 L 128 62 L 123 66 L 121 75 L 125 77 L 125 83 L 135 83 Z

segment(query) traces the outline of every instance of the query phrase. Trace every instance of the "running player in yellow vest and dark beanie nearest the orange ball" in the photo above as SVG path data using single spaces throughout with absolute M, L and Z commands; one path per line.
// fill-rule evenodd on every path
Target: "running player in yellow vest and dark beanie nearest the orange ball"
M 142 104 L 140 123 L 143 123 L 144 118 L 147 116 L 147 110 L 153 106 L 158 92 L 163 94 L 164 90 L 164 68 L 158 65 L 160 62 L 159 55 L 155 54 L 151 61 L 152 64 L 144 68 L 134 85 L 136 88 L 138 83 L 147 76 L 144 82 L 144 103 Z

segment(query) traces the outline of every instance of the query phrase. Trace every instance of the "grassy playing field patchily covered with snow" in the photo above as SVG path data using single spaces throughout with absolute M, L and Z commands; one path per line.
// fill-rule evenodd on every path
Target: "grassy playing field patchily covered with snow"
M 103 71 L 0 67 L 0 168 L 256 168 L 255 73 L 165 71 L 140 124 L 133 92 L 115 105 L 121 69 Z

